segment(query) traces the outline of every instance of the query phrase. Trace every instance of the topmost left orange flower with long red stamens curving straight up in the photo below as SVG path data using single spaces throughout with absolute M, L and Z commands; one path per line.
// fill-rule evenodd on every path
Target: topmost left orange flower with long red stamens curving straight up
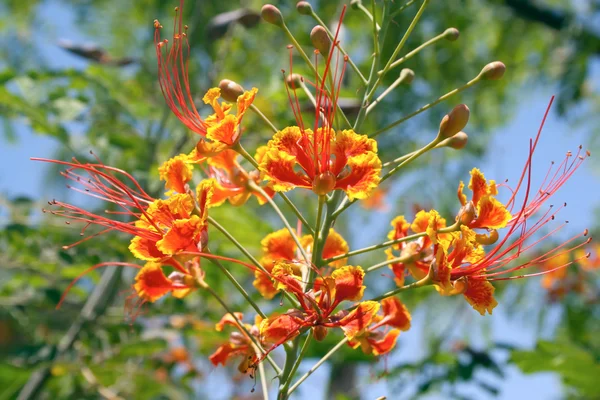
M 173 42 L 161 39 L 162 25 L 154 20 L 154 44 L 158 62 L 158 82 L 165 101 L 173 114 L 191 131 L 202 136 L 193 156 L 204 159 L 237 143 L 241 121 L 252 104 L 258 89 L 252 88 L 237 98 L 237 113 L 231 114 L 231 104 L 219 103 L 221 90 L 209 89 L 202 100 L 213 108 L 214 114 L 202 119 L 194 104 L 190 89 L 187 25 L 182 25 L 183 0 L 175 8 Z M 210 142 L 204 141 L 204 138 Z

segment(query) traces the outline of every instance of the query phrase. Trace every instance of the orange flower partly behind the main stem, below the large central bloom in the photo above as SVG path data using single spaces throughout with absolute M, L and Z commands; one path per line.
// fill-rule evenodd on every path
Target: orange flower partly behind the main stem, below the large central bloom
M 313 237 L 311 235 L 305 235 L 300 238 L 300 242 L 303 245 L 302 247 L 304 250 L 310 253 L 313 245 Z M 294 271 L 294 274 L 298 277 L 302 275 L 302 269 L 305 266 L 302 261 L 300 261 L 302 260 L 302 257 L 298 254 L 298 246 L 287 229 L 280 229 L 268 234 L 261 241 L 261 246 L 263 256 L 260 259 L 260 263 L 267 273 L 256 270 L 254 272 L 255 279 L 253 285 L 263 297 L 272 299 L 277 294 L 277 289 L 268 273 L 273 271 L 275 264 L 277 262 L 287 261 Z M 327 259 L 346 254 L 347 252 L 348 243 L 346 243 L 339 233 L 330 229 L 323 247 L 322 258 Z M 345 259 L 338 260 L 331 265 L 334 268 L 341 267 L 344 265 L 345 261 Z

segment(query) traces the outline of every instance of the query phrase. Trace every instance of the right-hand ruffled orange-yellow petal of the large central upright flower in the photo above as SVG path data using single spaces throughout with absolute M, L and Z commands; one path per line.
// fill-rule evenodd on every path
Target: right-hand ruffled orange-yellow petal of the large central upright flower
M 381 180 L 381 160 L 377 153 L 369 152 L 351 157 L 346 165 L 350 172 L 337 179 L 335 188 L 345 191 L 350 200 L 368 198 Z

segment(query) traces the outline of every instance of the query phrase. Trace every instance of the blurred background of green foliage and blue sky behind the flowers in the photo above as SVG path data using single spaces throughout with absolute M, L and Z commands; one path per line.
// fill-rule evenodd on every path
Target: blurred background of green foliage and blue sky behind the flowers
M 85 268 L 133 260 L 126 238 L 118 235 L 63 250 L 62 245 L 78 240 L 79 228 L 42 214 L 44 204 L 60 198 L 99 210 L 103 205 L 69 193 L 57 168 L 29 157 L 85 160 L 93 150 L 106 164 L 135 175 L 149 193 L 161 195 L 156 167 L 189 151 L 195 139 L 165 107 L 156 79 L 152 21 L 159 18 L 168 36 L 176 3 L 0 1 L 0 399 L 19 394 L 21 399 L 261 398 L 251 392 L 254 382 L 235 367 L 215 369 L 208 363 L 207 354 L 225 337 L 211 323 L 222 315 L 220 308 L 202 293 L 184 301 L 166 299 L 130 322 L 124 304 L 134 271 L 110 267 L 89 274 L 55 310 L 62 291 Z M 288 41 L 260 21 L 262 4 L 187 1 L 191 84 L 198 99 L 223 78 L 256 86 L 255 104 L 284 126 L 293 123 L 280 72 L 288 68 Z M 342 2 L 312 4 L 326 22 L 335 23 Z M 278 5 L 308 47 L 314 21 L 297 14 L 294 2 Z M 395 19 L 385 54 L 391 54 L 415 12 L 412 5 Z M 362 13 L 349 10 L 342 31 L 344 47 L 364 73 L 372 43 L 368 25 Z M 467 148 L 419 159 L 384 188 L 379 207 L 354 207 L 336 229 L 358 248 L 384 240 L 389 221 L 398 214 L 412 216 L 415 207 L 454 215 L 457 183 L 468 179 L 474 166 L 488 178 L 514 181 L 525 163 L 529 137 L 556 95 L 534 158 L 534 181 L 540 182 L 552 160 L 562 160 L 580 144 L 592 157 L 555 195 L 553 201 L 568 203 L 560 218 L 569 224 L 545 246 L 584 228 L 597 232 L 598 26 L 600 4 L 593 0 L 432 2 L 405 49 L 448 27 L 458 28 L 460 38 L 442 41 L 406 62 L 404 67 L 415 72 L 414 82 L 378 106 L 364 133 L 464 84 L 489 61 L 502 60 L 507 73 L 381 135 L 381 156 L 392 159 L 430 140 L 454 105 L 466 103 L 472 112 Z M 296 65 L 302 72 L 301 63 Z M 395 79 L 390 75 L 388 84 Z M 351 110 L 360 86 L 352 71 L 346 76 L 342 95 Z M 269 130 L 255 116 L 245 121 L 247 147 L 268 139 Z M 303 196 L 292 197 L 310 215 L 314 211 Z M 243 208 L 226 205 L 213 215 L 255 254 L 260 239 L 279 229 L 278 221 L 253 202 Z M 217 233 L 211 234 L 211 247 L 239 257 Z M 355 262 L 371 265 L 384 258 L 370 253 Z M 253 277 L 244 269 L 231 268 L 251 284 Z M 389 357 L 340 352 L 309 378 L 297 398 L 600 398 L 598 275 L 582 275 L 578 268 L 554 282 L 574 282 L 575 290 L 567 293 L 544 287 L 539 278 L 499 285 L 500 305 L 486 317 L 462 297 L 407 292 L 401 298 L 413 312 L 413 327 Z M 208 275 L 218 290 L 231 292 L 216 271 Z M 371 277 L 371 294 L 393 286 L 389 275 Z M 230 301 L 243 307 L 235 295 Z M 301 371 L 336 342 L 329 336 Z

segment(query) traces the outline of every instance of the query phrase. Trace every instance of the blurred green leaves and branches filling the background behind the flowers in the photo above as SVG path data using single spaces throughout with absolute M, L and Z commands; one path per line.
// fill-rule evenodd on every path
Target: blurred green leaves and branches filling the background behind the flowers
M 165 26 L 163 34 L 167 34 L 175 3 L 3 1 L 0 116 L 5 139 L 19 141 L 19 132 L 32 129 L 60 143 L 54 157 L 65 160 L 73 156 L 87 160 L 93 149 L 104 163 L 131 172 L 149 193 L 160 196 L 163 188 L 157 165 L 172 155 L 189 151 L 194 143 L 192 135 L 165 107 L 156 79 L 152 21 L 159 18 Z M 308 48 L 308 33 L 314 21 L 297 14 L 293 2 L 279 3 L 288 25 Z M 401 6 L 399 1 L 394 3 Z M 258 0 L 188 1 L 184 19 L 190 26 L 191 84 L 198 99 L 222 78 L 245 87 L 256 86 L 260 92 L 255 104 L 283 126 L 293 121 L 279 72 L 289 69 L 285 47 L 288 41 L 273 26 L 259 21 L 261 5 Z M 341 10 L 340 2 L 321 1 L 318 5 L 319 15 L 328 23 L 335 21 Z M 402 67 L 415 71 L 415 81 L 388 96 L 368 117 L 364 133 L 461 86 L 489 61 L 502 60 L 508 73 L 500 82 L 478 85 L 381 136 L 381 157 L 391 159 L 424 144 L 451 106 L 464 102 L 472 110 L 468 151 L 433 152 L 415 163 L 405 173 L 401 189 L 389 188 L 394 192 L 388 199 L 394 204 L 392 212 L 410 215 L 413 205 L 423 198 L 435 198 L 436 207 L 453 210 L 453 200 L 446 193 L 454 193 L 455 187 L 446 187 L 445 182 L 464 178 L 472 161 L 485 153 L 489 138 L 485 133 L 501 127 L 522 106 L 528 88 L 558 85 L 560 113 L 585 120 L 590 126 L 598 122 L 600 101 L 588 78 L 590 64 L 600 51 L 600 37 L 586 19 L 591 13 L 596 19 L 599 17 L 598 5 L 591 1 L 549 1 L 544 6 L 547 8 L 540 7 L 537 2 L 534 5 L 510 0 L 461 0 L 452 6 L 431 2 L 423 22 L 406 43 L 406 51 L 450 26 L 460 30 L 460 39 L 442 41 L 407 61 Z M 412 5 L 395 18 L 382 49 L 384 54 L 393 52 L 415 10 Z M 223 14 L 227 12 L 234 14 Z M 555 18 L 547 18 L 548 15 Z M 371 52 L 365 21 L 362 13 L 349 10 L 342 36 L 343 46 L 363 72 L 370 65 Z M 300 59 L 294 59 L 294 69 L 307 72 Z M 386 84 L 394 79 L 395 73 L 390 74 Z M 348 69 L 343 97 L 356 98 L 361 89 L 359 79 Z M 245 122 L 244 140 L 248 147 L 268 139 L 270 132 L 258 118 L 249 116 Z M 49 186 L 58 185 L 57 171 L 56 167 L 49 168 Z M 432 181 L 427 178 L 432 174 L 443 174 L 445 179 Z M 68 197 L 66 191 L 61 196 L 81 201 L 76 196 Z M 292 197 L 301 200 L 302 196 L 294 193 Z M 40 398 L 97 398 L 111 394 L 121 398 L 212 398 L 203 394 L 209 387 L 203 377 L 211 373 L 206 355 L 226 337 L 203 322 L 218 320 L 223 314 L 214 300 L 202 293 L 185 302 L 169 298 L 144 307 L 143 315 L 128 324 L 122 308 L 127 305 L 133 271 L 126 269 L 109 282 L 110 287 L 102 295 L 105 304 L 90 295 L 100 280 L 101 272 L 95 271 L 73 288 L 60 310 L 55 310 L 62 291 L 86 268 L 101 261 L 131 261 L 131 256 L 123 245 L 126 239 L 115 235 L 102 235 L 61 249 L 61 244 L 80 239 L 78 228 L 40 215 L 43 202 L 41 198 L 0 198 L 0 398 L 15 398 L 33 373 L 41 371 L 45 373 L 45 384 L 39 386 Z M 303 211 L 314 212 L 308 208 Z M 365 213 L 360 214 L 354 218 L 364 220 Z M 277 227 L 254 203 L 241 209 L 223 206 L 211 215 L 255 255 L 260 251 L 259 240 Z M 340 221 L 336 229 L 350 243 L 364 240 L 364 235 L 355 232 L 349 221 Z M 377 237 L 383 237 L 387 226 L 373 229 Z M 210 246 L 219 254 L 239 257 L 237 250 L 214 230 Z M 360 261 L 369 265 L 381 258 L 383 255 L 379 254 Z M 253 277 L 241 267 L 230 267 L 245 277 L 240 278 L 243 284 L 251 284 Z M 231 292 L 216 270 L 207 270 L 208 280 L 216 290 Z M 519 289 L 524 292 L 528 286 L 520 285 Z M 452 313 L 452 302 L 447 307 L 428 306 L 429 295 L 427 290 L 410 292 L 403 301 L 411 310 L 425 309 L 431 319 Z M 260 300 L 258 296 L 256 299 Z M 237 293 L 230 294 L 228 300 L 234 307 L 244 304 Z M 520 304 L 525 300 L 517 297 L 514 301 Z M 600 372 L 600 344 L 597 335 L 593 335 L 598 332 L 597 309 L 589 312 L 590 305 L 581 304 L 577 296 L 563 299 L 561 307 L 561 329 L 556 332 L 555 341 L 540 341 L 530 350 L 494 343 L 486 349 L 476 350 L 467 344 L 453 349 L 447 337 L 433 335 L 424 358 L 389 368 L 389 385 L 408 381 L 413 387 L 416 385 L 416 395 L 442 391 L 464 398 L 453 387 L 467 382 L 493 396 L 501 391 L 506 365 L 496 361 L 492 352 L 502 348 L 510 352 L 510 363 L 524 372 L 555 372 L 573 397 L 598 398 L 600 392 L 593 381 Z M 84 311 L 88 312 L 87 318 L 82 317 Z M 251 319 L 250 315 L 246 317 Z M 423 335 L 431 336 L 430 330 L 437 331 L 427 327 Z M 69 338 L 72 342 L 65 348 Z M 334 341 L 330 335 L 310 356 L 321 356 Z M 336 365 L 373 361 L 349 350 L 336 357 L 333 381 L 340 379 Z M 480 380 L 479 370 L 491 372 L 496 383 Z M 252 382 L 240 383 L 239 374 L 233 369 L 224 371 L 226 376 L 218 379 L 232 379 L 239 384 L 224 389 L 222 396 L 247 397 Z

